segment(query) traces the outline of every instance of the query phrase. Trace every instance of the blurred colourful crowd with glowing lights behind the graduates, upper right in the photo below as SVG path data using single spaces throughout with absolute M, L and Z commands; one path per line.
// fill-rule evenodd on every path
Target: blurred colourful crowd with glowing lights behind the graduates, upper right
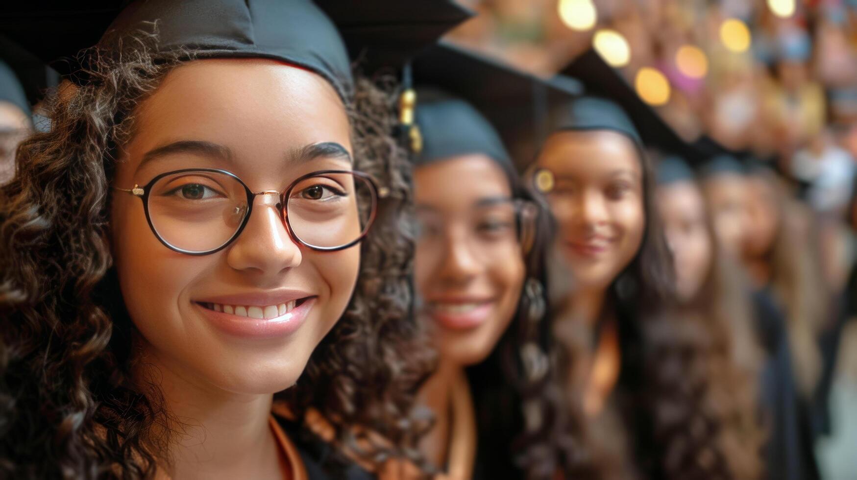
M 662 72 L 669 92 L 655 105 L 661 116 L 686 141 L 708 138 L 733 156 L 735 168 L 727 170 L 734 184 L 706 181 L 705 189 L 710 210 L 733 211 L 722 229 L 734 230 L 726 237 L 742 238 L 735 241 L 742 245 L 736 256 L 760 285 L 770 273 L 758 272 L 759 259 L 800 263 L 780 267 L 796 269 L 789 288 L 812 291 L 816 308 L 828 312 L 813 315 L 818 351 L 802 361 L 815 372 L 815 394 L 832 417 L 820 420 L 823 433 L 815 443 L 821 469 L 832 478 L 852 477 L 857 327 L 848 319 L 857 314 L 850 302 L 857 293 L 857 3 L 594 0 L 590 21 L 563 19 L 564 9 L 579 15 L 586 3 L 474 0 L 467 4 L 481 15 L 449 36 L 548 76 L 593 43 L 597 49 L 598 33 L 614 32 L 626 42 L 620 49 L 629 51 L 617 65 L 628 81 L 645 67 Z M 738 45 L 730 44 L 726 21 L 740 22 L 731 33 Z M 698 49 L 697 56 L 682 59 L 688 47 Z M 615 46 L 605 48 L 609 56 Z M 686 268 L 694 262 L 688 258 Z M 686 275 L 692 273 L 679 272 L 680 279 Z

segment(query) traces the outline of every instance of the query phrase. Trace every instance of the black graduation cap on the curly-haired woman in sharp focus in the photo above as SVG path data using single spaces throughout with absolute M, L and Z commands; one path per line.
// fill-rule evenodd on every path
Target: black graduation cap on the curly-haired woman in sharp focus
M 99 39 L 99 46 L 116 48 L 121 33 L 146 31 L 143 21 L 159 19 L 159 45 L 194 46 L 202 57 L 281 58 L 313 69 L 342 93 L 349 59 L 339 53 L 339 40 L 329 34 L 332 27 L 319 8 L 350 41 L 351 51 L 367 52 L 376 64 L 403 61 L 471 15 L 451 0 L 139 0 L 123 9 L 124 4 L 13 3 L 4 6 L 0 32 L 69 74 L 79 68 L 78 51 Z

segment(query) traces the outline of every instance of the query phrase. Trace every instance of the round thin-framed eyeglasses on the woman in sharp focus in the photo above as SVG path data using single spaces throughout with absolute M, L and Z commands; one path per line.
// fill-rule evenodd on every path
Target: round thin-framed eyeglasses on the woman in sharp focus
M 260 195 L 278 195 L 280 219 L 297 243 L 347 249 L 366 236 L 378 199 L 387 196 L 368 174 L 344 170 L 314 171 L 282 192 L 254 192 L 234 173 L 210 168 L 168 171 L 142 187 L 115 189 L 140 198 L 155 237 L 187 255 L 225 249 L 241 235 Z

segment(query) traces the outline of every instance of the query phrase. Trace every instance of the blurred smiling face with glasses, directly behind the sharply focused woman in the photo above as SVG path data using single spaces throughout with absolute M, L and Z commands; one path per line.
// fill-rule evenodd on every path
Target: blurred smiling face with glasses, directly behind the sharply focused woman
M 482 362 L 518 309 L 526 270 L 506 173 L 473 154 L 418 166 L 415 275 L 443 361 Z

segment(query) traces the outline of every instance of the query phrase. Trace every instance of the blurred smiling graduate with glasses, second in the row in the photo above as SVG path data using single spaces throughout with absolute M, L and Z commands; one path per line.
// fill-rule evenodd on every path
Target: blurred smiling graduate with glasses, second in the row
M 439 352 L 423 452 L 439 478 L 548 477 L 548 211 L 492 124 L 534 129 L 538 81 L 452 45 L 418 57 L 414 81 L 418 315 Z

